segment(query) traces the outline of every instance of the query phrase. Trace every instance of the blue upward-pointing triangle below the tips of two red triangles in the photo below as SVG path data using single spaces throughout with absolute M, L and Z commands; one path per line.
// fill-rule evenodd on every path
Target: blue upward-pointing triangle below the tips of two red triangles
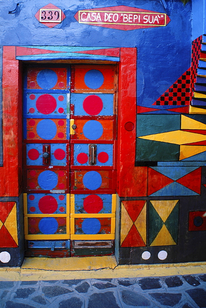
M 159 197 L 159 196 L 200 196 L 200 195 L 177 182 L 173 182 L 150 195 L 150 197 Z

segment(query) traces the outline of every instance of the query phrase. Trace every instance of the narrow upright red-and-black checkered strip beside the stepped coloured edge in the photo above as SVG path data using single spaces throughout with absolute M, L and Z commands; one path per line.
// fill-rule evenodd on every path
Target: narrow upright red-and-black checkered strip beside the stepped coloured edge
M 191 58 L 191 100 L 195 91 L 195 82 L 197 75 L 198 60 L 200 59 L 202 35 L 192 42 L 192 58 Z

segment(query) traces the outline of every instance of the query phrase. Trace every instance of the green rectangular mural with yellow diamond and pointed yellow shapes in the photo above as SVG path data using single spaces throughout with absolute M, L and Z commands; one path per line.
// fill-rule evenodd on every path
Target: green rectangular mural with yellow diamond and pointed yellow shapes
M 136 162 L 206 160 L 202 115 L 137 115 Z

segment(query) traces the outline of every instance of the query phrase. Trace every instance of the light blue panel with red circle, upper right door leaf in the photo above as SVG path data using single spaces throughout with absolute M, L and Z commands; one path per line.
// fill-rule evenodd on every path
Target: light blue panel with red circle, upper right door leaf
M 113 115 L 113 94 L 71 93 L 74 115 Z

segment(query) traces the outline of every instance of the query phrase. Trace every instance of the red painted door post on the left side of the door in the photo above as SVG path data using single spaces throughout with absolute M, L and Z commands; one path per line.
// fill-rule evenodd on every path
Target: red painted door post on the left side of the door
M 22 77 L 15 46 L 3 47 L 3 167 L 0 196 L 18 197 L 22 192 Z

